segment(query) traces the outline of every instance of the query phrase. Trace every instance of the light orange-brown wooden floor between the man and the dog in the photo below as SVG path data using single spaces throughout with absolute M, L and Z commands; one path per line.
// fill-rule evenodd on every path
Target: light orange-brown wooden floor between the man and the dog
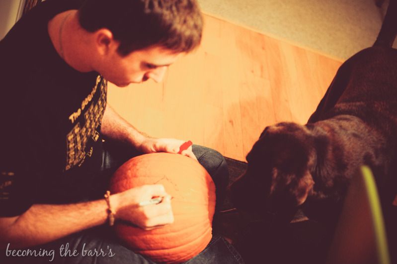
M 306 123 L 340 61 L 205 15 L 200 48 L 163 83 L 118 88 L 108 102 L 138 130 L 191 140 L 245 161 L 262 130 Z

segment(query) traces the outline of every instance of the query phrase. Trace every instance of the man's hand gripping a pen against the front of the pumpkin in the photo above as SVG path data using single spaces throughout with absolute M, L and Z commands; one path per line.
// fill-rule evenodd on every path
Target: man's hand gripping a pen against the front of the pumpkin
M 158 204 L 139 205 L 140 202 L 154 197 L 163 199 Z M 165 192 L 161 184 L 143 185 L 111 195 L 110 203 L 115 207 L 116 219 L 131 222 L 145 230 L 163 227 L 174 221 L 171 196 Z

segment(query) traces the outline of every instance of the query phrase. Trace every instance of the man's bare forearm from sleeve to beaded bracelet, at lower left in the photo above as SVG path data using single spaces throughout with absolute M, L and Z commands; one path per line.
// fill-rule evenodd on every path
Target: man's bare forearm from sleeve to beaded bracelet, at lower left
M 8 243 L 13 248 L 44 244 L 103 224 L 106 209 L 104 199 L 64 205 L 35 204 L 15 219 L 0 220 L 0 248 Z

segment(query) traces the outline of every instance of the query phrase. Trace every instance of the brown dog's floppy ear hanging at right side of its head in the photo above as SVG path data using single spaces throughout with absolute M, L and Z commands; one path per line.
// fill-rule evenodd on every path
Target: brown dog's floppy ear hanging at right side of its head
M 302 175 L 295 175 L 273 168 L 269 193 L 269 201 L 272 203 L 270 207 L 296 208 L 306 201 L 314 183 L 308 170 Z

